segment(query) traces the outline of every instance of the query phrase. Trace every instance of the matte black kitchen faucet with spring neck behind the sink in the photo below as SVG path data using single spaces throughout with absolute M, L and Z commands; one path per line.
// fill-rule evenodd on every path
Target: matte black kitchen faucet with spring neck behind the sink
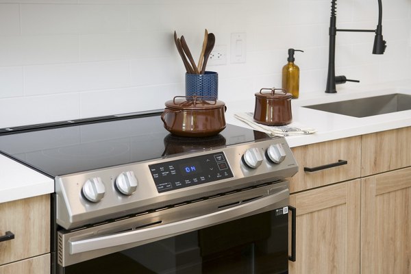
M 345 82 L 360 82 L 358 80 L 347 79 L 344 75 L 336 76 L 336 34 L 337 32 L 375 32 L 373 54 L 384 54 L 386 41 L 382 38 L 382 0 L 378 0 L 378 25 L 377 29 L 337 29 L 336 27 L 336 0 L 331 1 L 331 17 L 329 18 L 329 53 L 328 53 L 328 73 L 325 93 L 336 93 L 336 84 Z

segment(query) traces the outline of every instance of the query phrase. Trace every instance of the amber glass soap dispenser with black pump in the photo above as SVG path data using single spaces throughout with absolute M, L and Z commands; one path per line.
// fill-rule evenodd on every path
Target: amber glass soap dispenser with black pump
M 288 49 L 288 64 L 282 69 L 282 88 L 291 93 L 292 98 L 299 97 L 299 67 L 294 64 L 295 51 L 300 49 Z M 304 51 L 301 51 L 304 52 Z

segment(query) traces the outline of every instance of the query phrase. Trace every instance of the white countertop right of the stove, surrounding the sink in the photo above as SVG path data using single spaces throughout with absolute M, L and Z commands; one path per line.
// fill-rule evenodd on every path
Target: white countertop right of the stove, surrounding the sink
M 324 142 L 327 140 L 335 140 L 339 138 L 411 126 L 411 110 L 357 118 L 353 116 L 312 110 L 310 108 L 303 108 L 305 105 L 316 105 L 319 103 L 345 101 L 393 93 L 411 95 L 411 82 L 403 82 L 402 84 L 380 84 L 378 86 L 362 86 L 356 89 L 342 88 L 342 86 L 343 85 L 338 85 L 338 92 L 334 94 L 326 94 L 325 92 L 322 92 L 310 95 L 301 95 L 300 91 L 299 99 L 292 99 L 292 123 L 290 126 L 297 123 L 301 127 L 312 127 L 316 129 L 317 132 L 310 135 L 286 137 L 290 147 L 298 147 L 315 142 Z M 226 105 L 227 112 L 225 114 L 225 119 L 227 123 L 239 125 L 241 127 L 249 127 L 246 123 L 236 119 L 234 114 L 237 112 L 253 112 L 255 97 L 251 96 L 249 100 L 244 101 L 231 101 L 226 103 Z

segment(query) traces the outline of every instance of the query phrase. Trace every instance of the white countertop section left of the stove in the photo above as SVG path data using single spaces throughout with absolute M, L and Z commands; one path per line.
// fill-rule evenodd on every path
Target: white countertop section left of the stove
M 0 203 L 54 192 L 54 180 L 0 154 Z

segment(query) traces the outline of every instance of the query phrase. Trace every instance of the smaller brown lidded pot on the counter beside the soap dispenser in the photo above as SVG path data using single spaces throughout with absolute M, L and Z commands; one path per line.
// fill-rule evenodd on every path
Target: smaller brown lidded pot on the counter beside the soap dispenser
M 263 125 L 291 123 L 291 98 L 292 95 L 282 88 L 262 88 L 256 93 L 254 120 Z

